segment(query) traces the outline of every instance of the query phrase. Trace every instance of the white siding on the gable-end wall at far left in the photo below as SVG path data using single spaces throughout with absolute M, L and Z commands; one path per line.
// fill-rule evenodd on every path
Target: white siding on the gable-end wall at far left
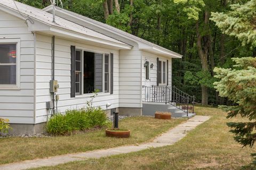
M 0 11 L 0 39 L 20 41 L 17 55 L 17 82 L 14 89 L 0 88 L 0 117 L 10 123 L 33 124 L 34 120 L 34 36 L 27 24 L 13 15 Z M 19 58 L 18 58 L 19 57 Z M 19 68 L 20 67 L 20 68 Z M 20 82 L 20 83 L 19 83 Z

